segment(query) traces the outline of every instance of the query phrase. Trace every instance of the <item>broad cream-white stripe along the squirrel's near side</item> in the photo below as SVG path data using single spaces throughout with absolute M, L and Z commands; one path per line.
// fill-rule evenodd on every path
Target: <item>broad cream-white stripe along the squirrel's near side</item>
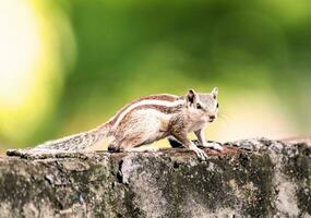
M 128 114 L 128 112 L 130 112 L 131 110 L 133 110 L 134 108 L 137 108 L 140 106 L 156 105 L 156 106 L 176 107 L 176 106 L 179 106 L 179 105 L 182 105 L 182 104 L 184 104 L 183 99 L 175 100 L 175 101 L 166 101 L 166 100 L 157 100 L 157 99 L 141 100 L 139 102 L 135 102 L 135 104 L 131 105 L 124 111 L 122 111 L 119 114 L 117 121 L 115 122 L 113 128 L 116 128 L 121 122 L 121 120 Z

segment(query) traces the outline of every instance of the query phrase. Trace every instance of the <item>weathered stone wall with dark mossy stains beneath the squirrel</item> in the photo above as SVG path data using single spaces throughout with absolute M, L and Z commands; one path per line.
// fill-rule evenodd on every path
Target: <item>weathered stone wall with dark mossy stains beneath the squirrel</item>
M 310 217 L 310 140 L 0 158 L 0 217 Z

